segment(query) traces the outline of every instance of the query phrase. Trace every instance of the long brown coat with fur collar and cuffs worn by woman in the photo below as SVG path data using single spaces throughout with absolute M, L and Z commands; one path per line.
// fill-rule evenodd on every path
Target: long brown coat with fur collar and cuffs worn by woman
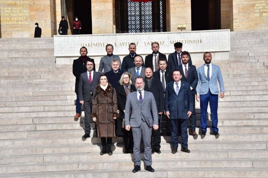
M 93 96 L 91 118 L 97 118 L 98 138 L 116 136 L 113 117 L 118 116 L 116 90 L 110 83 L 105 91 L 100 84 L 97 85 Z

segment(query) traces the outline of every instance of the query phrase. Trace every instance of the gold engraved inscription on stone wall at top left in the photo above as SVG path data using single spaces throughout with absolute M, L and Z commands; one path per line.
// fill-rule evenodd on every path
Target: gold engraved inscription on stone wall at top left
M 29 1 L 0 0 L 0 21 L 3 25 L 29 24 Z

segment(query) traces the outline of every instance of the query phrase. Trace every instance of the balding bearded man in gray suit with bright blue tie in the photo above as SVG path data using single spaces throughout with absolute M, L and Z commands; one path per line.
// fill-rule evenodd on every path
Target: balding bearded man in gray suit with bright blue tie
M 143 64 L 142 61 L 143 61 L 142 57 L 136 56 L 134 58 L 135 67 L 128 69 L 128 73 L 130 73 L 132 76 L 132 78 L 131 78 L 132 85 L 135 85 L 135 79 L 137 77 L 142 77 L 143 79 L 145 78 L 145 75 L 144 75 L 145 67 L 142 66 L 142 64 Z

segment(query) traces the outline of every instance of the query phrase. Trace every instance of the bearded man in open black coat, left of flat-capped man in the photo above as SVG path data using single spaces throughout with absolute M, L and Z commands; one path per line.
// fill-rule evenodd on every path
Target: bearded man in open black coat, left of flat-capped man
M 158 61 L 160 58 L 167 60 L 166 55 L 159 52 L 159 43 L 152 43 L 152 54 L 145 57 L 144 66 L 150 67 L 153 72 L 159 69 Z

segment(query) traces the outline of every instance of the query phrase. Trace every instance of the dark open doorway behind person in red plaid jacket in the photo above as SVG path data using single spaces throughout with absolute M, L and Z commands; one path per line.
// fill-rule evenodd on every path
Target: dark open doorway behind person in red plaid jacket
M 81 21 L 81 34 L 92 34 L 91 0 L 73 0 L 73 19 Z

